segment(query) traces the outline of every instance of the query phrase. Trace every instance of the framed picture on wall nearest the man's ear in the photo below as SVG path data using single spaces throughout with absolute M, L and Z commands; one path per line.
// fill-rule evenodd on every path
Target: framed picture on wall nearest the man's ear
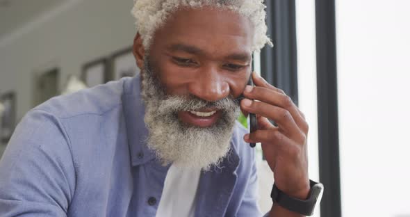
M 111 57 L 112 79 L 118 80 L 122 77 L 134 77 L 140 73 L 136 64 L 132 47 L 117 51 Z

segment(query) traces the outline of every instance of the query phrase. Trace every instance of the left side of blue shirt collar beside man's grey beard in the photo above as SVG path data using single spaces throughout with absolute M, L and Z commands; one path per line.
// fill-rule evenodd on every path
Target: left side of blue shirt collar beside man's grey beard
M 126 135 L 128 138 L 132 166 L 155 159 L 155 153 L 147 147 L 148 129 L 145 127 L 145 105 L 140 96 L 140 76 L 124 81 L 122 96 Z

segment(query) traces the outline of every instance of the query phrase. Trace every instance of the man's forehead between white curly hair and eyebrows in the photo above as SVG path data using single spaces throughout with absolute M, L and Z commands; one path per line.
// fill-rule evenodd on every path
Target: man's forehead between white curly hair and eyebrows
M 252 53 L 254 28 L 242 15 L 217 8 L 182 8 L 172 13 L 154 34 L 152 49 L 190 45 L 212 56 Z

